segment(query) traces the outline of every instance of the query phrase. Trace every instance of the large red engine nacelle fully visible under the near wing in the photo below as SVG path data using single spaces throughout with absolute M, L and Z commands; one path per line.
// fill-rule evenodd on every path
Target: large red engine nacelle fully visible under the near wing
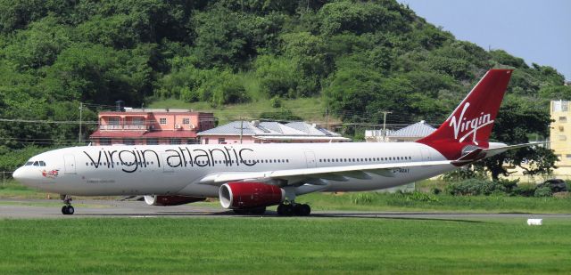
M 219 190 L 220 205 L 227 209 L 275 206 L 285 199 L 285 190 L 261 182 L 228 182 Z

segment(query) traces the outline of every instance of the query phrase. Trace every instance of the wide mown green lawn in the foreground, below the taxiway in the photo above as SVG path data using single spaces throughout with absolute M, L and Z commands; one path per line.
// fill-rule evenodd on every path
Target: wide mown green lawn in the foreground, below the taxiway
M 1 220 L 2 274 L 571 271 L 571 221 Z

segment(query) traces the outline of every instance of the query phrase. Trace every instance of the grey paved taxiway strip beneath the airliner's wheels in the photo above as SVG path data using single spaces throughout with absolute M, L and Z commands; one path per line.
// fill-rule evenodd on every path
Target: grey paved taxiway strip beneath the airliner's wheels
M 30 206 L 32 205 L 32 206 Z M 47 199 L 0 199 L 0 219 L 21 218 L 86 218 L 86 217 L 240 217 L 221 207 L 190 204 L 185 206 L 147 206 L 141 201 L 74 200 L 75 214 L 63 215 L 59 200 Z M 268 211 L 264 216 L 277 216 Z M 571 214 L 462 214 L 426 212 L 361 212 L 361 211 L 314 211 L 309 218 L 384 218 L 384 219 L 437 219 L 470 220 L 481 218 L 564 218 Z

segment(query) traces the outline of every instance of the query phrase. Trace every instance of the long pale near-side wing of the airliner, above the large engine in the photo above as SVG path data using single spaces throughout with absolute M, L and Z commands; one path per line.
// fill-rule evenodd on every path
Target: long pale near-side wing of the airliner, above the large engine
M 287 180 L 300 182 L 301 180 L 335 180 L 335 181 L 349 181 L 350 178 L 354 179 L 368 179 L 370 174 L 380 174 L 387 177 L 392 177 L 391 170 L 407 167 L 418 166 L 439 166 L 449 165 L 451 161 L 421 161 L 421 162 L 401 162 L 389 164 L 374 164 L 374 165 L 360 165 L 360 166 L 333 166 L 333 167 L 315 167 L 315 168 L 302 168 L 302 169 L 287 169 L 287 170 L 273 170 L 262 172 L 229 172 L 229 173 L 216 173 L 209 174 L 203 177 L 199 183 L 222 185 L 226 182 L 239 182 L 239 181 L 267 181 L 270 179 Z M 370 174 L 368 174 L 370 173 Z

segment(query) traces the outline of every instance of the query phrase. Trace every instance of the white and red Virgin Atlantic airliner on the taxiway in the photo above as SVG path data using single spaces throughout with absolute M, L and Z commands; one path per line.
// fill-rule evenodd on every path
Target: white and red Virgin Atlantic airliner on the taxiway
M 205 198 L 237 214 L 310 214 L 311 192 L 381 190 L 443 174 L 503 151 L 534 145 L 489 142 L 512 69 L 490 69 L 434 133 L 417 142 L 81 146 L 29 159 L 13 178 L 62 194 L 145 196 L 154 206 Z

